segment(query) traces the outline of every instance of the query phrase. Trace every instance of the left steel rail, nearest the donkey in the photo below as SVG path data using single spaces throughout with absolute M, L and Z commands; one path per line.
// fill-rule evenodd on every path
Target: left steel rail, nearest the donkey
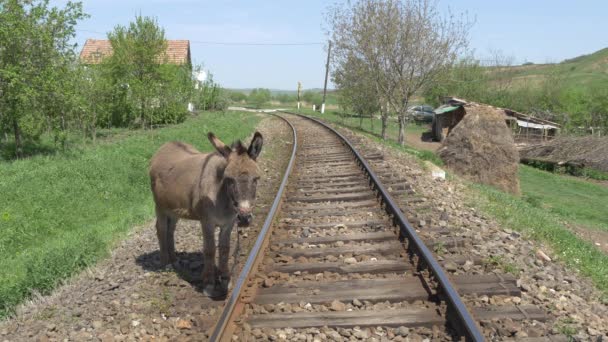
M 237 278 L 236 284 L 235 284 L 234 288 L 232 289 L 232 292 L 230 293 L 230 297 L 228 298 L 228 301 L 226 302 L 226 305 L 224 306 L 224 310 L 222 311 L 222 314 L 220 315 L 220 318 L 217 321 L 217 323 L 213 329 L 213 332 L 209 338 L 210 341 L 219 341 L 220 339 L 228 340 L 226 336 L 223 336 L 225 333 L 226 327 L 232 320 L 231 319 L 232 315 L 235 311 L 235 307 L 236 307 L 237 303 L 239 302 L 239 298 L 242 295 L 243 289 L 245 287 L 245 283 L 249 279 L 249 276 L 251 274 L 251 271 L 253 270 L 253 267 L 256 264 L 256 260 L 259 256 L 259 254 L 262 252 L 265 240 L 267 239 L 267 237 L 269 235 L 268 232 L 270 230 L 270 227 L 272 226 L 274 217 L 281 204 L 281 198 L 283 197 L 285 188 L 287 188 L 287 181 L 289 179 L 291 170 L 293 168 L 293 164 L 296 159 L 296 152 L 298 150 L 298 135 L 296 133 L 295 127 L 291 124 L 291 122 L 289 122 L 284 117 L 282 117 L 278 114 L 274 114 L 274 113 L 270 113 L 270 114 L 281 118 L 291 128 L 292 135 L 293 135 L 293 147 L 291 150 L 291 157 L 289 159 L 289 164 L 287 164 L 287 168 L 285 169 L 285 174 L 283 175 L 283 179 L 281 180 L 281 185 L 279 186 L 277 195 L 274 198 L 274 201 L 272 202 L 272 207 L 270 207 L 270 211 L 268 212 L 268 215 L 266 215 L 266 220 L 264 221 L 264 225 L 262 226 L 262 229 L 260 230 L 260 233 L 258 234 L 258 238 L 256 239 L 255 244 L 253 245 L 253 248 L 251 249 L 251 252 L 249 253 L 249 256 L 247 257 L 247 262 L 243 266 L 241 273 L 239 273 L 239 277 Z

